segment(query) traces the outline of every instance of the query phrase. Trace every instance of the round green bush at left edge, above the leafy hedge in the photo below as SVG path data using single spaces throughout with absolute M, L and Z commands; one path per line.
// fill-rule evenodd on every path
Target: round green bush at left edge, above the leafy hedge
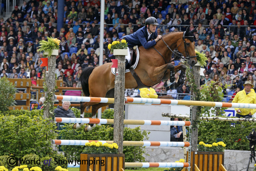
M 0 79 L 0 111 L 7 111 L 9 107 L 16 104 L 14 98 L 16 90 L 17 88 L 10 83 L 8 78 L 2 77 Z

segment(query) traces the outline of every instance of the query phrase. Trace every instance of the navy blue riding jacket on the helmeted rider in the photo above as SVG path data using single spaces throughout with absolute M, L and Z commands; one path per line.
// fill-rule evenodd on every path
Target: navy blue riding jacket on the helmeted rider
M 150 38 L 148 39 L 147 27 L 144 26 L 132 34 L 123 36 L 121 39 L 125 38 L 129 48 L 133 48 L 133 46 L 136 45 L 142 45 L 145 49 L 148 49 L 156 44 L 156 41 L 148 41 L 156 39 L 157 35 L 157 31 L 155 31 L 151 34 Z

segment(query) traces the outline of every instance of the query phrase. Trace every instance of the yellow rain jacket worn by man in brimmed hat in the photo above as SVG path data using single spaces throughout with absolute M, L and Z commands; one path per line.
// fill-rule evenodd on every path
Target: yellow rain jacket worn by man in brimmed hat
M 250 93 L 246 95 L 245 90 L 239 91 L 235 98 L 232 100 L 232 103 L 248 103 L 248 104 L 256 104 L 256 94 L 253 89 L 251 89 Z M 245 109 L 245 108 L 235 108 L 235 110 L 241 110 L 240 115 L 247 115 L 251 112 L 253 115 L 256 112 L 256 109 Z

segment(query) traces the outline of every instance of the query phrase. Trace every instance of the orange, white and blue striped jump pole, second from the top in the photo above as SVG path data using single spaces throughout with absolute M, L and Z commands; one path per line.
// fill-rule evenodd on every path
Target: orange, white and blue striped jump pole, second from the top
M 69 118 L 55 117 L 54 121 L 58 123 L 93 123 L 93 124 L 114 124 L 114 119 L 92 119 L 92 118 Z M 190 126 L 190 121 L 168 121 L 168 120 L 129 120 L 124 119 L 126 125 L 176 125 Z

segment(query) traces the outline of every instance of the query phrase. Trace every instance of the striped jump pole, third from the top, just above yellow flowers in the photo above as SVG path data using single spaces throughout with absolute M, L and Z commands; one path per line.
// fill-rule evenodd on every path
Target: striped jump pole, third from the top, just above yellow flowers
M 55 145 L 66 146 L 85 146 L 85 143 L 102 142 L 112 144 L 114 141 L 103 140 L 52 140 Z M 168 142 L 168 141 L 123 141 L 123 146 L 141 146 L 141 147 L 189 147 L 189 142 Z

